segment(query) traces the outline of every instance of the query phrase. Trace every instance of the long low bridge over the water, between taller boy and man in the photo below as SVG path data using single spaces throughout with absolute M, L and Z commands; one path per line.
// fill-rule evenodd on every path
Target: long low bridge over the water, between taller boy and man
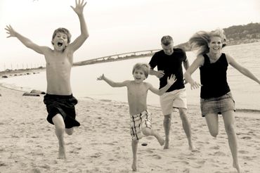
M 141 58 L 145 56 L 152 56 L 153 53 L 156 51 L 160 51 L 161 49 L 153 49 L 153 50 L 147 50 L 147 51 L 133 51 L 128 53 L 119 53 L 112 56 L 103 56 L 100 58 L 93 58 L 90 60 L 83 60 L 79 61 L 77 63 L 74 63 L 74 66 L 80 66 L 80 65 L 89 65 L 89 64 L 95 64 L 95 63 L 106 63 L 111 62 L 115 60 L 126 60 L 131 58 Z

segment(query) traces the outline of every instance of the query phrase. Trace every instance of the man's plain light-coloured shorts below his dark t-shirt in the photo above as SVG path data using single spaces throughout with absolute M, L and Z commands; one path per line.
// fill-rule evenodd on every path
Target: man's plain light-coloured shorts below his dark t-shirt
M 174 91 L 165 92 L 160 96 L 160 104 L 163 115 L 170 115 L 174 108 L 186 108 L 186 89 L 176 89 Z

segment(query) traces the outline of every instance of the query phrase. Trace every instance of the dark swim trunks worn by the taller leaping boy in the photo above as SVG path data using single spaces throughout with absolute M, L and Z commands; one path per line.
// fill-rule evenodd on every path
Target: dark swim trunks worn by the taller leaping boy
M 77 99 L 74 96 L 60 96 L 46 94 L 44 96 L 44 104 L 46 104 L 48 116 L 47 121 L 53 124 L 52 118 L 60 114 L 63 116 L 65 128 L 79 127 L 80 124 L 75 120 L 76 112 L 74 105 L 77 104 Z

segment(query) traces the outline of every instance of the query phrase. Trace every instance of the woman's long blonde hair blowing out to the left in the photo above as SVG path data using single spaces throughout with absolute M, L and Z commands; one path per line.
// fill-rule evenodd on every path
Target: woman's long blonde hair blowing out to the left
M 209 42 L 212 37 L 220 37 L 222 41 L 222 48 L 226 46 L 226 35 L 224 30 L 217 29 L 212 32 L 199 31 L 190 38 L 189 43 L 192 50 L 197 50 L 197 55 L 209 53 Z

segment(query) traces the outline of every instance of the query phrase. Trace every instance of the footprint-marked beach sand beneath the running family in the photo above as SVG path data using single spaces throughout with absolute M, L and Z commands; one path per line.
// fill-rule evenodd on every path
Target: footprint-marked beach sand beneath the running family
M 58 140 L 54 126 L 46 121 L 41 96 L 22 96 L 22 91 L 0 87 L 0 172 L 131 172 L 131 136 L 126 103 L 86 98 L 76 105 L 81 126 L 65 135 L 67 160 L 57 160 Z M 149 106 L 154 129 L 164 136 L 160 108 Z M 236 112 L 238 157 L 244 172 L 260 172 L 260 115 Z M 223 120 L 219 136 L 210 136 L 198 106 L 189 106 L 193 142 L 188 150 L 180 117 L 173 115 L 169 150 L 153 137 L 138 144 L 138 172 L 236 172 Z M 148 143 L 141 146 L 141 143 Z

